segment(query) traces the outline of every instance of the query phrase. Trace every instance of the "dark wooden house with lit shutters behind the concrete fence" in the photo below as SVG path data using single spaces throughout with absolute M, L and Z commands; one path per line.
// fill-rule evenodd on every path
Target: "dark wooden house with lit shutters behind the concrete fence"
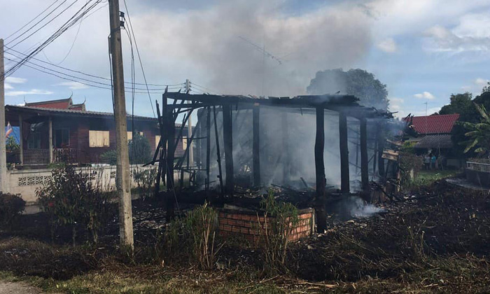
M 63 158 L 78 165 L 103 163 L 101 155 L 116 149 L 113 114 L 87 111 L 85 103 L 73 104 L 68 98 L 26 103 L 25 106 L 6 105 L 5 109 L 10 125 L 20 127 L 18 161 L 25 167 L 43 167 Z M 132 139 L 133 121 L 134 130 L 148 139 L 153 153 L 160 140 L 158 120 L 128 115 L 128 140 Z M 176 156 L 182 154 L 181 140 Z

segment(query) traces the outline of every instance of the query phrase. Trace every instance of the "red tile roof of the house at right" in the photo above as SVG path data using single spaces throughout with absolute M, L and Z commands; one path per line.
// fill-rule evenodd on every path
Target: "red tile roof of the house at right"
M 442 114 L 433 116 L 414 116 L 403 120 L 412 122 L 414 130 L 419 134 L 449 134 L 459 114 Z

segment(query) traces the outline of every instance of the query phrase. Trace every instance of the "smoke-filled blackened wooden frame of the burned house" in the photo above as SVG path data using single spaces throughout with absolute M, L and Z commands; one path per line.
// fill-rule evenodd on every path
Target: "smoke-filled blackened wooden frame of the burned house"
M 271 186 L 293 191 L 309 198 L 323 231 L 331 195 L 368 195 L 370 182 L 386 175 L 383 151 L 391 113 L 357 102 L 344 94 L 259 98 L 165 92 L 161 113 L 157 102 L 161 140 L 151 164 L 159 166 L 155 193 L 165 197 L 167 216 L 186 194 L 183 183 L 174 182 L 178 170 L 189 174 L 188 191 L 216 203 L 235 203 L 244 194 L 253 198 Z M 183 114 L 186 125 L 193 112 L 197 124 L 188 148 L 176 158 L 183 130 L 175 120 Z

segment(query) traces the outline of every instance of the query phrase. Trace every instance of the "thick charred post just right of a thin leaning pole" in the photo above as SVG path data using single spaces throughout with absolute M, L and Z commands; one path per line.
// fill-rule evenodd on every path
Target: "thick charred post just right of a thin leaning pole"
M 223 144 L 225 145 L 225 191 L 233 195 L 233 131 L 232 109 L 230 104 L 223 104 Z

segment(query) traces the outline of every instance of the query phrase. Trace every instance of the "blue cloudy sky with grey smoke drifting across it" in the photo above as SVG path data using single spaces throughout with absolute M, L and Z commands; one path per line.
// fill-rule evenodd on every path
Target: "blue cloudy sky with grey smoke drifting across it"
M 0 38 L 15 50 L 7 50 L 6 57 L 17 60 L 18 52 L 31 52 L 87 1 L 94 0 L 0 0 Z M 134 30 L 131 40 L 123 31 L 122 40 L 128 113 L 133 106 L 130 41 L 137 83 L 143 84 L 144 77 L 135 41 L 146 80 L 155 84 L 150 97 L 145 85 L 137 85 L 134 114 L 141 116 L 154 116 L 160 85 L 179 90 L 186 79 L 191 93 L 293 97 L 306 93 L 316 71 L 360 68 L 387 85 L 389 109 L 404 117 L 439 111 L 452 93 L 468 91 L 475 96 L 490 78 L 490 0 L 126 3 L 127 9 L 123 0 L 120 3 L 126 13 L 125 27 L 131 20 Z M 54 13 L 18 37 L 59 4 Z M 36 60 L 31 59 L 71 77 L 36 71 L 32 64 L 22 66 L 6 79 L 6 104 L 72 97 L 74 103 L 85 101 L 87 110 L 111 112 L 108 35 L 109 8 L 104 0 L 38 53 Z M 6 69 L 14 65 L 6 59 Z

